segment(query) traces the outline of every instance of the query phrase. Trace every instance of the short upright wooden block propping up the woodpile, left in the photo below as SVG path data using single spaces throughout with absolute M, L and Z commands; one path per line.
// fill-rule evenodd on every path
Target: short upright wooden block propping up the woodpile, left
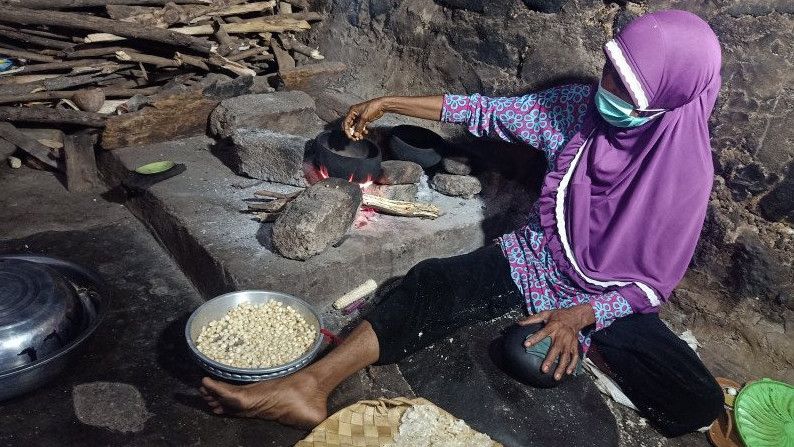
M 88 131 L 67 135 L 63 141 L 66 189 L 86 192 L 102 186 L 94 154 L 95 136 Z

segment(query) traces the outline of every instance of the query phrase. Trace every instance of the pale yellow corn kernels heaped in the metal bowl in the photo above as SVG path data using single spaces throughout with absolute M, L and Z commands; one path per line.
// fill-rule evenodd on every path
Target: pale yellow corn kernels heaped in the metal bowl
M 196 347 L 204 355 L 236 368 L 270 368 L 306 352 L 317 329 L 292 307 L 270 300 L 242 303 L 201 328 Z

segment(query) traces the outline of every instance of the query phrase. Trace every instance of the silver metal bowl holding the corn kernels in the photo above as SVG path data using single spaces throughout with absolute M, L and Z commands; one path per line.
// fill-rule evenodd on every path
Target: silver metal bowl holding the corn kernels
M 314 326 L 317 332 L 317 338 L 314 340 L 314 343 L 297 359 L 284 365 L 277 365 L 269 368 L 236 368 L 207 357 L 196 347 L 196 339 L 201 333 L 201 328 L 211 321 L 220 320 L 226 313 L 239 304 L 263 304 L 270 300 L 282 302 L 295 309 L 308 324 Z M 240 290 L 215 297 L 193 311 L 193 314 L 190 315 L 190 318 L 187 320 L 187 325 L 185 325 L 185 340 L 187 340 L 187 344 L 191 352 L 193 352 L 196 361 L 210 374 L 227 380 L 258 382 L 292 374 L 308 365 L 314 357 L 317 356 L 323 342 L 320 328 L 322 328 L 320 315 L 309 303 L 300 298 L 280 292 Z

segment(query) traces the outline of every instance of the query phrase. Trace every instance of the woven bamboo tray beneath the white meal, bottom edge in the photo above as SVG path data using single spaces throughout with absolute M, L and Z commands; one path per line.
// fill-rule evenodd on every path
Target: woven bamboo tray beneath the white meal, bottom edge
M 314 428 L 295 447 L 376 447 L 394 439 L 400 418 L 412 405 L 434 405 L 417 398 L 362 400 L 345 407 Z M 434 405 L 435 406 L 435 405 Z M 437 407 L 438 408 L 438 407 Z M 438 408 L 441 413 L 446 413 Z M 494 447 L 502 447 L 494 443 Z

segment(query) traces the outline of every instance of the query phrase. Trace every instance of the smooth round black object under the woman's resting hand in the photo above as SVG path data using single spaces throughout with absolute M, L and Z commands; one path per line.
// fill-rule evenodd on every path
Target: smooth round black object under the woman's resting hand
M 545 360 L 545 353 L 527 352 L 524 341 L 527 337 L 540 330 L 541 324 L 527 326 L 514 325 L 505 331 L 502 338 L 502 361 L 505 372 L 516 380 L 536 388 L 553 388 L 560 384 L 554 374 L 544 373 L 540 368 Z M 554 371 L 556 361 L 550 368 Z

